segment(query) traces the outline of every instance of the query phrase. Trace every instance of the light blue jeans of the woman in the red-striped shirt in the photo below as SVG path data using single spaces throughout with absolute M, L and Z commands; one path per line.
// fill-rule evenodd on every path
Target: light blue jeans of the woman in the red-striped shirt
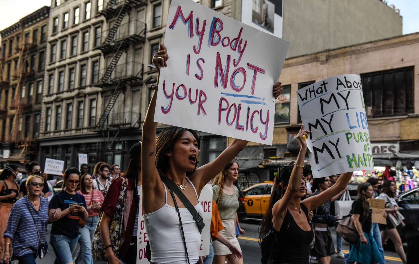
M 79 227 L 80 237 L 78 242 L 80 243 L 81 259 L 85 264 L 93 264 L 92 258 L 92 239 L 95 233 L 96 225 L 98 224 L 99 216 L 89 217 L 86 225 L 82 228 Z

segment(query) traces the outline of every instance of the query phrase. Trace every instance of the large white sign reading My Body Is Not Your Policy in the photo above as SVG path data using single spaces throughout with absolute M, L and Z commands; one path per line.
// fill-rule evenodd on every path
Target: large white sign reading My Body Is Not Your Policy
M 173 0 L 155 122 L 272 145 L 277 83 L 290 42 Z

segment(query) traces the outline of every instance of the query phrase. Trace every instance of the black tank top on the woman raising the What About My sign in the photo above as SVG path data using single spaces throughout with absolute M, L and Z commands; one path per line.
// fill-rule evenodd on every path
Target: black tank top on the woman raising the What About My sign
M 301 204 L 301 209 L 308 219 L 307 207 Z M 287 210 L 279 232 L 273 226 L 272 229 L 277 241 L 274 252 L 275 263 L 308 264 L 310 257 L 309 247 L 314 237 L 311 228 L 310 231 L 301 229 Z

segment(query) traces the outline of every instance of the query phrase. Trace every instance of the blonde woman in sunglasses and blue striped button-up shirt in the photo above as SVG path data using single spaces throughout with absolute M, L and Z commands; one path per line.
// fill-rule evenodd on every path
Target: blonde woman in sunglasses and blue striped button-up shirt
M 36 263 L 37 249 L 46 243 L 48 223 L 48 201 L 42 197 L 42 187 L 44 179 L 41 176 L 29 176 L 26 180 L 28 194 L 13 205 L 4 233 L 5 252 L 1 258 L 4 263 L 8 264 L 10 260 L 10 241 L 19 263 Z

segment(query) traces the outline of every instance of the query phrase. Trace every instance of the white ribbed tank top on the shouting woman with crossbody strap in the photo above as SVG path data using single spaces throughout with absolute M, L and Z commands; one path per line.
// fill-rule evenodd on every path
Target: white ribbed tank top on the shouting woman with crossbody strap
M 189 181 L 188 177 L 186 179 Z M 199 202 L 197 190 L 191 181 L 189 183 L 194 188 L 198 199 L 198 204 L 194 206 L 195 210 L 204 217 L 204 210 Z M 166 197 L 165 204 L 159 210 L 144 215 L 145 230 L 151 249 L 151 262 L 155 264 L 187 264 L 178 213 L 175 207 L 167 204 L 167 189 L 164 183 L 163 186 Z M 201 234 L 188 209 L 179 208 L 179 212 L 185 233 L 189 262 L 196 263 L 199 260 Z

